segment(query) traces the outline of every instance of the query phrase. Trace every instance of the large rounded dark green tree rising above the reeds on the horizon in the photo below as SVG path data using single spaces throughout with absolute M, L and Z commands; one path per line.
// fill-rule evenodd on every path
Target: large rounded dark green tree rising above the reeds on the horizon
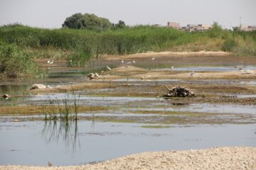
M 106 30 L 112 27 L 112 23 L 107 18 L 100 18 L 90 13 L 75 13 L 65 19 L 63 28 Z

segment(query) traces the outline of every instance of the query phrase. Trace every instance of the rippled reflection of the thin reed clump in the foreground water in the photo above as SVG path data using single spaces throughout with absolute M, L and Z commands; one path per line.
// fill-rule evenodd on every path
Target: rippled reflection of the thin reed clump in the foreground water
M 42 130 L 42 136 L 47 142 L 65 142 L 65 147 L 72 146 L 73 149 L 78 145 L 80 140 L 78 136 L 78 120 L 46 120 Z

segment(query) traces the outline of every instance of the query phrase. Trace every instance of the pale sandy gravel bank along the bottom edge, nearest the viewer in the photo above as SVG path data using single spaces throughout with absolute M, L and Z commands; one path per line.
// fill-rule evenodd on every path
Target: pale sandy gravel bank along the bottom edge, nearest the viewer
M 256 147 L 214 147 L 198 150 L 144 152 L 81 166 L 0 166 L 0 169 L 256 169 Z

